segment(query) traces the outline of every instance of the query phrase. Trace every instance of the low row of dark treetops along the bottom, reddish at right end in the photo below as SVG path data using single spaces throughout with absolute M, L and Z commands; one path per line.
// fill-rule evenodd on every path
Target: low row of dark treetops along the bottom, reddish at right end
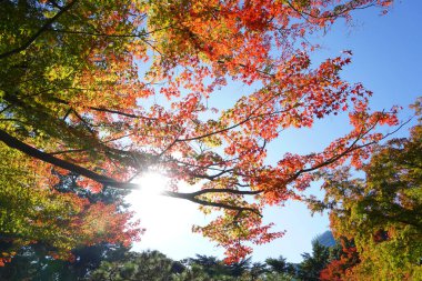
M 353 250 L 354 249 L 354 250 Z M 0 269 L 7 280 L 174 280 L 174 281 L 293 281 L 314 279 L 321 263 L 331 262 L 321 271 L 321 280 L 341 280 L 340 274 L 360 262 L 352 241 L 342 239 L 334 248 L 313 242 L 313 252 L 303 254 L 300 264 L 284 258 L 251 263 L 250 258 L 227 264 L 214 258 L 197 254 L 180 262 L 158 251 L 129 252 L 128 248 L 98 244 L 73 250 L 76 261 L 64 262 L 46 257 L 44 245 L 24 247 L 8 267 Z M 323 251 L 321 251 L 323 250 Z M 329 259 L 321 252 L 329 251 Z M 349 253 L 353 252 L 352 255 Z M 344 262 L 345 261 L 345 262 Z M 99 265 L 101 262 L 101 265 Z

